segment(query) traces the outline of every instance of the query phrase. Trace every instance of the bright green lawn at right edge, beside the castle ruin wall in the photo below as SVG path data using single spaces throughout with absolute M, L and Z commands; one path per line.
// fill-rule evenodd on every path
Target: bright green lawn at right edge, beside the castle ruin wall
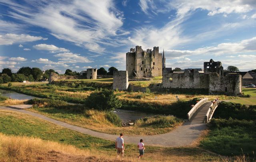
M 234 100 L 228 100 L 230 102 L 246 104 L 246 105 L 256 105 L 256 88 L 242 88 L 244 94 L 250 94 L 250 98 L 239 98 Z

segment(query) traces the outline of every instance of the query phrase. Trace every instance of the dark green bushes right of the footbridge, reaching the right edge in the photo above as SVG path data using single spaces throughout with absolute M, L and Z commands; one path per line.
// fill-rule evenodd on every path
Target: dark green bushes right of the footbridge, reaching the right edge
M 214 118 L 234 118 L 234 119 L 245 119 L 255 120 L 256 119 L 256 106 L 246 106 L 242 104 L 236 104 L 233 102 L 220 102 L 218 108 L 216 108 Z

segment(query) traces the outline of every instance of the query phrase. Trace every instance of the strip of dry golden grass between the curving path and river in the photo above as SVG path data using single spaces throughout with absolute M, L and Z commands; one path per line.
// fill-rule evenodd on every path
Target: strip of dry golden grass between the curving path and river
M 80 113 L 56 108 L 33 108 L 29 109 L 29 111 L 37 112 L 72 125 L 108 134 L 118 134 L 120 132 L 131 135 L 162 134 L 170 132 L 176 128 L 176 126 L 182 124 L 182 120 L 175 120 L 176 122 L 162 127 L 154 124 L 135 124 L 134 126 L 118 127 L 106 119 L 105 112 L 100 112 L 97 110 L 85 110 L 84 113 Z

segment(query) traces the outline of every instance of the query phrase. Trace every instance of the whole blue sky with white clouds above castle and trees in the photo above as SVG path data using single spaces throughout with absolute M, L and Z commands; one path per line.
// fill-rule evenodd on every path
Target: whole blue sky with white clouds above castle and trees
M 125 70 L 136 45 L 166 67 L 256 69 L 255 0 L 0 0 L 0 69 Z

